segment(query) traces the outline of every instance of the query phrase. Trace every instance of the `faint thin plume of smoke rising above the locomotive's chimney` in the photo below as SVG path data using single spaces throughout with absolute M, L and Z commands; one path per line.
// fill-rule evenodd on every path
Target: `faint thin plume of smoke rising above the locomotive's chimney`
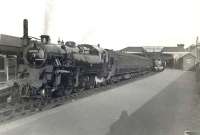
M 53 12 L 53 3 L 54 3 L 54 0 L 46 0 L 46 3 L 45 3 L 44 34 L 49 33 L 51 14 Z

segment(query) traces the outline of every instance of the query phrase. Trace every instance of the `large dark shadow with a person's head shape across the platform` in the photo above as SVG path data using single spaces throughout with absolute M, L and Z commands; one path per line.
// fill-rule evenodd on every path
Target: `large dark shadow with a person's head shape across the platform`
M 185 72 L 136 112 L 123 110 L 106 135 L 200 135 L 186 132 L 200 127 L 200 79 L 195 74 Z

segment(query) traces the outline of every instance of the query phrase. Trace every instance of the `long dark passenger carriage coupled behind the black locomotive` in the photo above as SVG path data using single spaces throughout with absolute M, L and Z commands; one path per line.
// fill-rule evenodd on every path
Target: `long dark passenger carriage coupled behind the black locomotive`
M 108 53 L 111 66 L 108 71 L 111 81 L 117 82 L 152 71 L 153 63 L 149 58 L 115 51 L 108 51 Z

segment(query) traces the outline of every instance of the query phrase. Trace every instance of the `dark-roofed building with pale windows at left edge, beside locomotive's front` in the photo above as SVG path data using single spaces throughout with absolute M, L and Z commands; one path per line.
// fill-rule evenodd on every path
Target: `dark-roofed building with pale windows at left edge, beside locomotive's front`
M 0 34 L 0 83 L 17 76 L 17 56 L 20 55 L 22 40 L 19 37 Z

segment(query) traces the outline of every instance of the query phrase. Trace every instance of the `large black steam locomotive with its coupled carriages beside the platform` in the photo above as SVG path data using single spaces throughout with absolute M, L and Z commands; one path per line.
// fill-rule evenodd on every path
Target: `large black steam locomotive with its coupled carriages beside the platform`
M 147 57 L 122 54 L 100 45 L 77 45 L 73 41 L 52 44 L 48 35 L 41 35 L 41 39 L 29 37 L 27 20 L 22 43 L 14 83 L 20 97 L 46 99 L 70 95 L 129 79 L 156 67 Z

